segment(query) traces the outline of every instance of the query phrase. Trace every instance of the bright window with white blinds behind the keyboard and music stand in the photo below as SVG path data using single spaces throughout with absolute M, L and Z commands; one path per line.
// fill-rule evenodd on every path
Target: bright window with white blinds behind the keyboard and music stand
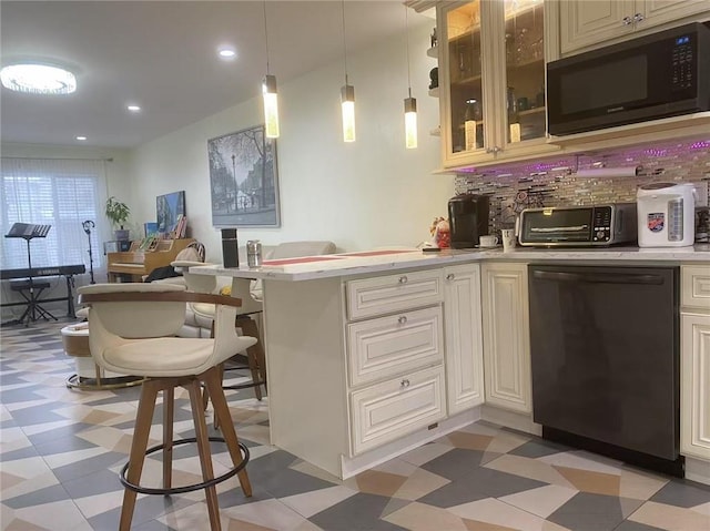
M 104 161 L 2 157 L 0 171 L 0 232 L 13 223 L 51 225 L 44 238 L 30 241 L 32 267 L 85 264 L 89 269 L 89 235 L 82 223 L 91 219 L 94 268 L 103 265 L 100 249 L 102 201 L 105 196 Z M 22 238 L 0 238 L 3 269 L 28 266 Z

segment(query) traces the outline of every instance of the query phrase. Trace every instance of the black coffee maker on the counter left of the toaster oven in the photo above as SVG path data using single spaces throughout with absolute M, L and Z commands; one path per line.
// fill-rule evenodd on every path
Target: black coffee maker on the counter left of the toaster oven
M 487 195 L 462 194 L 448 202 L 452 248 L 473 248 L 488 234 L 490 200 Z

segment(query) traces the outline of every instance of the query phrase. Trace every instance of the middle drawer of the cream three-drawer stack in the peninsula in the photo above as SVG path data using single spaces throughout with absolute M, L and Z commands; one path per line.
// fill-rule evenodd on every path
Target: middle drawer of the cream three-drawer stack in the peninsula
M 347 325 L 351 386 L 442 360 L 443 328 L 440 305 Z

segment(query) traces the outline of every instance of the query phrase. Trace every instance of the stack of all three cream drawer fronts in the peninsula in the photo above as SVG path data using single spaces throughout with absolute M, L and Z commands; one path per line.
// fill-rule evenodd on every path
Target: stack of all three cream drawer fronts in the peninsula
M 349 280 L 345 293 L 357 456 L 446 417 L 442 269 Z

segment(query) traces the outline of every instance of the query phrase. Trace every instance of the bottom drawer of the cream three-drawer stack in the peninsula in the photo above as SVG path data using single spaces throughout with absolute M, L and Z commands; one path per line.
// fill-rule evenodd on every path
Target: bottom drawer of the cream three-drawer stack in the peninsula
M 352 392 L 353 452 L 361 453 L 443 419 L 444 404 L 440 365 Z

